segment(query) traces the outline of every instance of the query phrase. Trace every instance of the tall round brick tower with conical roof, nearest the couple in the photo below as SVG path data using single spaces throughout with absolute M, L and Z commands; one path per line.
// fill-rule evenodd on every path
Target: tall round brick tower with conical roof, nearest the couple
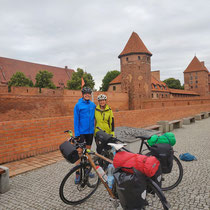
M 121 89 L 129 94 L 130 109 L 141 108 L 143 99 L 151 98 L 152 53 L 133 32 L 118 58 L 121 66 Z

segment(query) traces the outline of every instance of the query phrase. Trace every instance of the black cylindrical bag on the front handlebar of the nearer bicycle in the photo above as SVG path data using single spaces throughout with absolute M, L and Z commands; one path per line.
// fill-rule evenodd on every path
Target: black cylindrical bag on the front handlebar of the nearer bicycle
M 76 147 L 69 141 L 65 141 L 60 145 L 60 151 L 63 157 L 70 163 L 75 163 L 79 160 L 79 154 Z

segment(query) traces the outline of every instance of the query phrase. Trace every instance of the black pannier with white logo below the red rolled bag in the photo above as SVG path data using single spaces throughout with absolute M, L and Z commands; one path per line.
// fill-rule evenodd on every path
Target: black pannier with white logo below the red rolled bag
M 147 204 L 146 177 L 135 168 L 130 169 L 132 174 L 122 169 L 115 169 L 113 174 L 120 204 L 126 210 L 140 210 Z

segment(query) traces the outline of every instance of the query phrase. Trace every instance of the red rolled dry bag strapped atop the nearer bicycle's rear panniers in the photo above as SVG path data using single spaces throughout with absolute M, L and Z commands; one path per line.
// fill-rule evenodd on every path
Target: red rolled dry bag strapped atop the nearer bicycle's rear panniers
M 144 175 L 152 177 L 158 170 L 160 165 L 159 160 L 154 156 L 146 156 L 134 154 L 131 152 L 121 151 L 117 152 L 113 159 L 113 165 L 118 167 L 134 167 L 141 171 Z M 129 173 L 133 173 L 131 169 L 123 169 Z

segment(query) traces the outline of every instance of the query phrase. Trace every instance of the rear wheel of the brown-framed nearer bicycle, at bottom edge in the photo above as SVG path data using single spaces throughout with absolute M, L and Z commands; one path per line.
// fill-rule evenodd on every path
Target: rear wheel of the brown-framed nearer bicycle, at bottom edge
M 149 191 L 146 195 L 147 205 L 143 209 L 168 210 L 170 208 L 170 204 L 167 202 L 165 195 L 153 180 L 148 179 L 147 188 Z

